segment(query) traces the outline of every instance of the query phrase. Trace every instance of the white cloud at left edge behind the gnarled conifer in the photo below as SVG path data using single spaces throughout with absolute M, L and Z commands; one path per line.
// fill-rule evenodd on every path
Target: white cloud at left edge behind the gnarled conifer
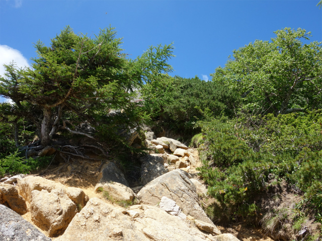
M 0 75 L 4 76 L 5 67 L 4 64 L 10 64 L 11 62 L 14 62 L 17 67 L 30 67 L 28 64 L 27 59 L 20 53 L 19 50 L 13 49 L 7 45 L 0 45 Z M 11 99 L 6 99 L 3 97 L 0 97 L 0 102 L 9 101 L 11 102 Z

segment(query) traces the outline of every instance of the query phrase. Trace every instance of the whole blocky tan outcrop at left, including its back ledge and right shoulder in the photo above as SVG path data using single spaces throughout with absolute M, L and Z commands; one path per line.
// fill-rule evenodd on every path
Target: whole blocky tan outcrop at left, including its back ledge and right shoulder
M 31 219 L 48 236 L 63 231 L 87 197 L 79 188 L 66 188 L 42 177 L 18 178 L 19 194 L 26 200 Z M 77 203 L 78 202 L 78 203 Z

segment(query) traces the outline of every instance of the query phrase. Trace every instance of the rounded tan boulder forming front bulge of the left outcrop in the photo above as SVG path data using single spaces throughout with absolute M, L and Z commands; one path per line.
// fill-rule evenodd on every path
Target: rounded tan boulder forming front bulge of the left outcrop
M 69 198 L 44 189 L 33 190 L 31 199 L 31 220 L 50 237 L 65 230 L 77 212 L 76 205 Z

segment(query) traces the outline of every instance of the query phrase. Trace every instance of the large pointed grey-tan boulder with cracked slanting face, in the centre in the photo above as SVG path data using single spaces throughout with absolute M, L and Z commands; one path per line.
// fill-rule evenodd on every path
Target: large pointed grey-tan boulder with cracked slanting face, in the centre
M 156 205 L 163 196 L 174 200 L 186 215 L 212 223 L 199 205 L 195 185 L 185 175 L 184 171 L 176 169 L 157 177 L 143 187 L 136 198 L 142 204 Z

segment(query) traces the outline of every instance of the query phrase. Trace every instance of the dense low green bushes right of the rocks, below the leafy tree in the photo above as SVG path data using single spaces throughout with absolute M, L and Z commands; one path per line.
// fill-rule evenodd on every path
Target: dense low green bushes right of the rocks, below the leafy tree
M 322 213 L 321 110 L 238 117 L 199 122 L 205 139 L 201 176 L 225 215 L 255 215 L 259 207 L 254 200 L 273 179 L 299 188 L 305 208 Z M 304 215 L 303 208 L 294 208 L 294 217 Z

